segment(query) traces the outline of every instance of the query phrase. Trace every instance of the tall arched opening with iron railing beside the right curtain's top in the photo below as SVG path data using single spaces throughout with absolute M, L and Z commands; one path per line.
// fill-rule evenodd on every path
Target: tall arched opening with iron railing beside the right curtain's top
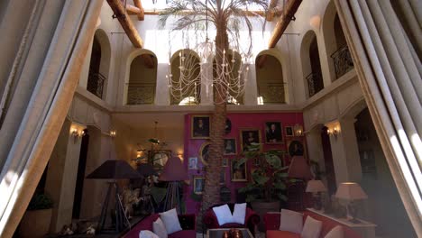
M 323 21 L 324 41 L 326 43 L 326 54 L 330 75 L 334 81 L 342 77 L 350 69 L 353 69 L 353 60 L 345 41 L 344 32 L 340 19 L 335 10 L 333 1 L 326 7 Z

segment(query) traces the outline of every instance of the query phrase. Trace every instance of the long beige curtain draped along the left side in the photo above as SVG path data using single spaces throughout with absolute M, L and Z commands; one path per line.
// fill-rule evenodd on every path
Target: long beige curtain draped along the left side
M 102 0 L 2 0 L 0 237 L 12 237 L 78 85 Z

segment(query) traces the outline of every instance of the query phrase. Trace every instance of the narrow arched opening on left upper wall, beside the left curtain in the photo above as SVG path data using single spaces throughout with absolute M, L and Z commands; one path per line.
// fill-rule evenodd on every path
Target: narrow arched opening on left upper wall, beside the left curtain
M 110 51 L 106 33 L 101 29 L 96 30 L 89 62 L 87 91 L 102 99 L 110 69 Z

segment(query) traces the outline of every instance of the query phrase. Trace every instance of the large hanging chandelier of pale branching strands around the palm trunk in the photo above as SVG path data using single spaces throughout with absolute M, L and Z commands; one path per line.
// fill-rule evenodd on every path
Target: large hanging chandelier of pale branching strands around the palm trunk
M 207 0 L 206 7 L 208 7 Z M 239 35 L 229 35 L 229 48 L 232 50 L 216 50 L 215 42 L 208 38 L 208 11 L 205 18 L 205 38 L 201 31 L 195 31 L 193 37 L 189 29 L 184 30 L 182 42 L 186 43 L 185 50 L 179 51 L 179 62 L 175 60 L 177 58 L 173 57 L 172 60 L 170 58 L 169 71 L 166 75 L 170 95 L 179 102 L 185 100 L 188 104 L 198 104 L 201 94 L 204 93 L 201 89 L 205 90 L 206 96 L 210 96 L 213 90 L 215 97 L 223 99 L 215 103 L 238 105 L 238 99 L 243 96 L 248 80 L 252 49 L 249 48 L 247 53 L 242 53 L 238 41 Z M 188 38 L 185 39 L 186 37 Z M 190 49 L 189 40 L 193 39 L 199 42 Z M 222 62 L 217 64 L 216 57 L 221 58 Z M 171 70 L 172 64 L 179 65 L 177 73 Z M 175 77 L 175 74 L 178 76 Z

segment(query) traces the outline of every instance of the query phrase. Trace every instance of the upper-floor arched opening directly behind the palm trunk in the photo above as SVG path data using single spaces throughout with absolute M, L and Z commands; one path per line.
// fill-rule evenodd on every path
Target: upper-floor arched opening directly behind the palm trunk
M 230 84 L 230 90 L 228 92 L 219 92 L 217 87 L 213 87 L 213 93 L 214 93 L 214 101 L 216 102 L 216 96 L 219 94 L 225 94 L 228 93 L 229 96 L 227 97 L 227 104 L 228 105 L 243 105 L 243 92 L 240 92 L 239 88 L 237 87 L 237 84 L 235 83 L 235 78 L 239 77 L 239 70 L 241 68 L 241 61 L 242 56 L 239 54 L 239 52 L 234 50 L 228 50 L 228 52 L 225 53 L 225 57 L 227 58 L 228 66 L 227 69 L 229 72 L 229 78 L 233 78 L 229 84 Z M 213 60 L 213 77 L 217 78 L 216 74 L 216 59 Z

